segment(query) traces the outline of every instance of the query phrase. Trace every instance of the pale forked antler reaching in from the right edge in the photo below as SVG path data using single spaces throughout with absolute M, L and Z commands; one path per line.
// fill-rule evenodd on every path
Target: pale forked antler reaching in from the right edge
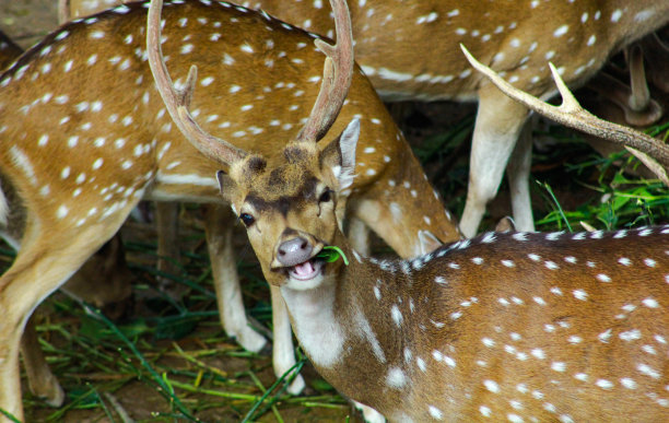
M 514 87 L 492 69 L 474 59 L 465 46 L 460 45 L 460 48 L 471 66 L 491 80 L 504 94 L 559 124 L 623 145 L 630 153 L 648 166 L 665 185 L 669 186 L 669 176 L 667 175 L 667 169 L 669 169 L 669 146 L 643 132 L 599 119 L 597 116 L 585 110 L 570 92 L 570 89 L 560 77 L 553 63 L 549 63 L 549 66 L 553 73 L 553 80 L 562 95 L 562 105 L 560 106 L 550 105 Z

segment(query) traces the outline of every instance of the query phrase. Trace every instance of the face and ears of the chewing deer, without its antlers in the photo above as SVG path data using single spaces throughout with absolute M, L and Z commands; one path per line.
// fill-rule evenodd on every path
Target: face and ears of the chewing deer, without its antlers
M 219 174 L 268 282 L 312 289 L 339 266 L 316 255 L 338 234 L 337 202 L 353 180 L 359 133 L 353 120 L 322 151 L 314 142 L 292 142 L 278 163 L 253 155 Z

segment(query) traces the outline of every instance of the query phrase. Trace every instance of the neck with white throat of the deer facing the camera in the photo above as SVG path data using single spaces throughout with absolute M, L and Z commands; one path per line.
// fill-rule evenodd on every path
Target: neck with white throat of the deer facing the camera
M 410 385 L 401 363 L 413 336 L 406 329 L 411 317 L 401 316 L 394 305 L 402 301 L 400 295 L 409 301 L 399 285 L 410 286 L 411 280 L 401 270 L 385 271 L 378 261 L 362 257 L 343 236 L 336 243 L 349 266 L 340 265 L 317 289 L 281 287 L 293 330 L 318 372 L 340 392 L 376 408 L 378 396 L 367 395 L 378 392 L 380 383 L 385 385 L 382 401 L 396 409 Z

